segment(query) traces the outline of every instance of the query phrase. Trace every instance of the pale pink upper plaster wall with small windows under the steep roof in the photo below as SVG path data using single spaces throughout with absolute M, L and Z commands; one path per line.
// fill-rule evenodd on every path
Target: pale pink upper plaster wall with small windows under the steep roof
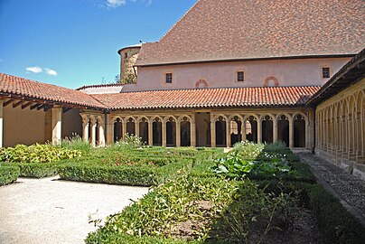
M 302 59 L 279 61 L 236 61 L 206 64 L 185 64 L 139 67 L 134 90 L 195 89 L 198 80 L 205 80 L 209 88 L 262 87 L 265 80 L 275 77 L 279 86 L 322 86 L 322 68 L 335 74 L 350 58 Z M 237 81 L 237 72 L 245 72 L 245 81 Z M 165 74 L 173 73 L 173 82 L 165 83 Z M 269 82 L 273 85 L 274 82 Z M 129 88 L 125 88 L 129 90 Z M 132 87 L 130 88 L 132 90 Z

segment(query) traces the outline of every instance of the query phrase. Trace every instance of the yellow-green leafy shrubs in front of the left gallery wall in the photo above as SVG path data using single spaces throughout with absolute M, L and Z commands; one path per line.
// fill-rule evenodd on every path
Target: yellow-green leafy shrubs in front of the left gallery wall
M 10 163 L 51 163 L 61 159 L 78 158 L 81 152 L 53 145 L 15 145 L 0 148 L 0 161 Z

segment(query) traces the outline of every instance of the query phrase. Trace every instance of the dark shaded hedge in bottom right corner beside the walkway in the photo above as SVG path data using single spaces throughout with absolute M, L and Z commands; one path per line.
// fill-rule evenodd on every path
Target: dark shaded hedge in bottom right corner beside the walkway
M 325 243 L 364 243 L 365 227 L 323 186 L 314 185 L 309 198 Z

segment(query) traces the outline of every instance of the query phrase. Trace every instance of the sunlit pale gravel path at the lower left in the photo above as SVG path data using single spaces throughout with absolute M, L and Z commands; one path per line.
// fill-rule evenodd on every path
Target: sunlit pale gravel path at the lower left
M 83 243 L 89 216 L 105 219 L 148 192 L 146 187 L 19 178 L 0 187 L 0 243 Z

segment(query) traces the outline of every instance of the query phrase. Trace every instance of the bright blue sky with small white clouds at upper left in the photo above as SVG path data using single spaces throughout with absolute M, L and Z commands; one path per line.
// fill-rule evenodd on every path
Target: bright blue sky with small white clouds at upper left
M 71 89 L 114 82 L 122 47 L 158 41 L 196 0 L 0 0 L 0 72 Z

